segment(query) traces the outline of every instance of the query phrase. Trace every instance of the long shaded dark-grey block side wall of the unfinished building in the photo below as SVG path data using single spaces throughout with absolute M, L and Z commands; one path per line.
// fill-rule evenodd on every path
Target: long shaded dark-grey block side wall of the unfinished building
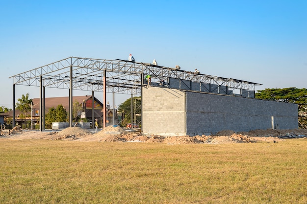
M 187 135 L 271 129 L 271 116 L 280 129 L 298 128 L 297 104 L 196 92 L 186 97 Z

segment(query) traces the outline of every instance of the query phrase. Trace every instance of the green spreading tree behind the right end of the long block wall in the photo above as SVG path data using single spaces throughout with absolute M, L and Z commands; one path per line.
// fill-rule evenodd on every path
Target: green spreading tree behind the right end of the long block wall
M 284 89 L 265 89 L 259 90 L 255 94 L 255 97 L 271 101 L 297 103 L 299 108 L 299 127 L 307 127 L 307 89 L 297 89 L 295 87 Z

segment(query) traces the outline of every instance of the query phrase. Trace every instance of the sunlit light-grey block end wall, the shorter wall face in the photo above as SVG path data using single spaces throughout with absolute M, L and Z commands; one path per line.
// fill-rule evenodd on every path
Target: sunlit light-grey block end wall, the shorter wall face
M 143 133 L 185 136 L 185 92 L 151 86 L 143 87 L 142 91 Z

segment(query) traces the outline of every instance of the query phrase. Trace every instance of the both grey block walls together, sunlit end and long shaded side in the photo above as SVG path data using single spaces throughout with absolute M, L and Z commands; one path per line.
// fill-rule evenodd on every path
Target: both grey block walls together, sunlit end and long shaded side
M 221 130 L 298 128 L 297 104 L 237 96 L 143 88 L 143 132 L 156 135 L 201 135 Z

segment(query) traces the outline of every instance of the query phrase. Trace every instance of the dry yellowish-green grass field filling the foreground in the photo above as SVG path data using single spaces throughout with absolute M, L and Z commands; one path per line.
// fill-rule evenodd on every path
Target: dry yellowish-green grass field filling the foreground
M 307 139 L 0 140 L 1 204 L 306 204 Z

